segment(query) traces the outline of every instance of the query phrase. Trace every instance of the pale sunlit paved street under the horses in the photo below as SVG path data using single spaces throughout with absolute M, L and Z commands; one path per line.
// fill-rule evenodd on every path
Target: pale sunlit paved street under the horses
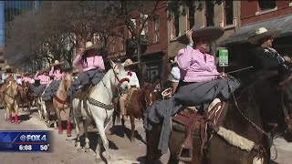
M 84 151 L 78 152 L 75 148 L 76 134 L 72 130 L 72 137 L 66 136 L 66 130 L 63 135 L 58 135 L 54 128 L 47 128 L 44 122 L 37 118 L 36 111 L 32 116 L 28 116 L 26 112 L 20 114 L 23 120 L 19 125 L 11 124 L 4 120 L 4 110 L 0 109 L 0 129 L 1 130 L 51 130 L 53 132 L 53 152 L 52 153 L 0 153 L 1 164 L 69 164 L 69 163 L 96 163 L 95 153 L 92 149 L 96 148 L 96 142 L 91 142 L 89 153 Z M 64 117 L 65 118 L 65 117 Z M 136 120 L 136 128 L 138 135 L 136 142 L 131 143 L 129 139 L 130 124 L 126 124 L 126 135 L 120 130 L 115 135 L 108 135 L 110 140 L 110 155 L 113 164 L 136 164 L 144 163 L 146 153 L 144 129 L 141 120 Z M 89 133 L 90 138 L 96 138 L 94 132 Z M 92 140 L 92 139 L 91 139 Z M 292 161 L 292 143 L 287 143 L 281 138 L 275 140 L 278 158 L 276 162 L 281 164 L 290 164 Z M 162 163 L 167 163 L 168 154 L 162 156 Z M 103 163 L 102 160 L 98 163 Z M 183 163 L 183 162 L 182 162 Z

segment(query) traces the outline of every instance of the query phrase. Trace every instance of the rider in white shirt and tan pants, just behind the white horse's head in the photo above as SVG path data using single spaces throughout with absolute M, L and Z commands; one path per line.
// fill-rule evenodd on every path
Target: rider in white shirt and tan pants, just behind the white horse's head
M 127 78 L 129 78 L 130 82 L 130 89 L 128 91 L 128 93 L 124 93 L 121 97 L 120 97 L 120 113 L 123 117 L 124 120 L 127 120 L 127 110 L 126 110 L 126 100 L 127 98 L 130 98 L 131 94 L 137 90 L 138 88 L 140 88 L 140 83 L 139 83 L 139 79 L 136 75 L 135 72 L 133 72 L 131 69 L 132 67 L 136 66 L 138 64 L 138 62 L 133 63 L 130 58 L 128 58 L 124 63 L 124 67 L 125 70 L 128 72 L 127 73 Z

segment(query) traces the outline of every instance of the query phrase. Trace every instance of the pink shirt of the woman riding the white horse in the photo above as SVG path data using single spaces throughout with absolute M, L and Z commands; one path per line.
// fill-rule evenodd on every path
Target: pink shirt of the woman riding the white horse
M 104 63 L 102 56 L 89 56 L 87 57 L 87 63 L 82 63 L 82 58 L 80 55 L 76 56 L 76 58 L 73 61 L 73 64 L 77 66 L 81 66 L 83 69 L 83 72 L 89 71 L 91 69 L 102 69 L 104 70 Z

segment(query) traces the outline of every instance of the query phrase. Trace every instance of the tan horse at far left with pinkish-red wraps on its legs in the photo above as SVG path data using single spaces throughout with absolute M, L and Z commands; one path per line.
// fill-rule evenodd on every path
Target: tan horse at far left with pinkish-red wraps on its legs
M 20 86 L 16 83 L 16 81 L 10 81 L 9 85 L 5 88 L 4 92 L 4 103 L 5 103 L 5 118 L 12 123 L 12 112 L 15 113 L 15 122 L 18 124 L 18 104 L 20 102 L 21 93 Z

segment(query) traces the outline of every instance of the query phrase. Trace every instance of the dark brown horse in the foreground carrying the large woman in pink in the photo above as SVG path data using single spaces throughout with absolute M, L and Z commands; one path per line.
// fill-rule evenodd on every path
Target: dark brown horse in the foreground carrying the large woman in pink
M 243 137 L 255 143 L 255 149 L 248 151 L 239 149 L 214 132 L 214 127 L 206 121 L 207 132 L 194 131 L 193 135 L 193 159 L 188 163 L 252 163 L 255 157 L 264 159 L 265 163 L 269 162 L 269 146 L 266 135 L 262 132 L 262 118 L 260 109 L 255 102 L 255 95 L 252 87 L 244 87 L 238 95 L 225 102 L 225 116 L 220 124 L 221 127 L 227 128 L 235 132 L 235 138 Z M 174 124 L 172 124 L 174 125 Z M 147 155 L 146 160 L 149 163 L 160 159 L 161 150 L 158 149 L 158 143 L 162 124 L 154 124 L 151 131 L 146 130 Z M 207 135 L 207 142 L 203 142 L 202 134 Z M 172 128 L 169 140 L 169 149 L 171 157 L 169 163 L 178 163 L 181 153 L 181 146 L 185 139 L 185 128 Z M 260 148 L 260 149 L 258 149 Z

